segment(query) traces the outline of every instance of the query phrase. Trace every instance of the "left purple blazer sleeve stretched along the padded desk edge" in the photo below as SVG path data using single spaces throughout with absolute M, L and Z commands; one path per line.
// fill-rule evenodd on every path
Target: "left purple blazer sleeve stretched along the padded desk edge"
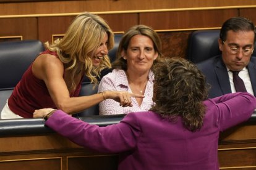
M 135 135 L 126 123 L 99 127 L 72 118 L 63 111 L 57 110 L 49 116 L 45 124 L 75 144 L 99 152 L 124 152 L 136 145 Z M 116 147 L 117 145 L 118 147 Z

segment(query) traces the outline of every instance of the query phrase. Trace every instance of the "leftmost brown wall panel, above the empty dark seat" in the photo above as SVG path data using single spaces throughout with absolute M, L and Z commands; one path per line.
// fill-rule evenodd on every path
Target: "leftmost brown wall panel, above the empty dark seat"
M 0 36 L 38 39 L 37 18 L 0 18 Z

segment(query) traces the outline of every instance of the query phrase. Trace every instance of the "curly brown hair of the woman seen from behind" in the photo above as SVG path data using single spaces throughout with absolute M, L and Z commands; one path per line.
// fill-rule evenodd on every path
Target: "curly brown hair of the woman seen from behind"
M 189 131 L 203 126 L 208 87 L 205 76 L 191 62 L 181 57 L 160 60 L 155 73 L 153 102 L 150 109 L 175 123 L 178 117 Z

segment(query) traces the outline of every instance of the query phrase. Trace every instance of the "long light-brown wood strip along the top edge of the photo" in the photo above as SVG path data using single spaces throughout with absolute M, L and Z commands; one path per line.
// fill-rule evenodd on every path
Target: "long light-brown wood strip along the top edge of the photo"
M 97 0 L 0 3 L 0 15 L 61 14 L 190 7 L 253 6 L 255 0 Z

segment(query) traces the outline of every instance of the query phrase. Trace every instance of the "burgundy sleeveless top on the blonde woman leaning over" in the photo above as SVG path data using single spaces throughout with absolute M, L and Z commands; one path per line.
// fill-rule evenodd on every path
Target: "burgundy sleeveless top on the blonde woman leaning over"
M 49 50 L 41 54 L 51 54 L 58 57 L 56 52 Z M 22 79 L 20 79 L 19 83 L 15 86 L 11 97 L 8 99 L 8 105 L 11 111 L 23 118 L 33 118 L 33 112 L 36 109 L 56 108 L 56 105 L 49 95 L 45 82 L 33 75 L 32 64 L 25 71 Z M 70 97 L 79 96 L 82 79 L 75 91 L 70 94 Z

